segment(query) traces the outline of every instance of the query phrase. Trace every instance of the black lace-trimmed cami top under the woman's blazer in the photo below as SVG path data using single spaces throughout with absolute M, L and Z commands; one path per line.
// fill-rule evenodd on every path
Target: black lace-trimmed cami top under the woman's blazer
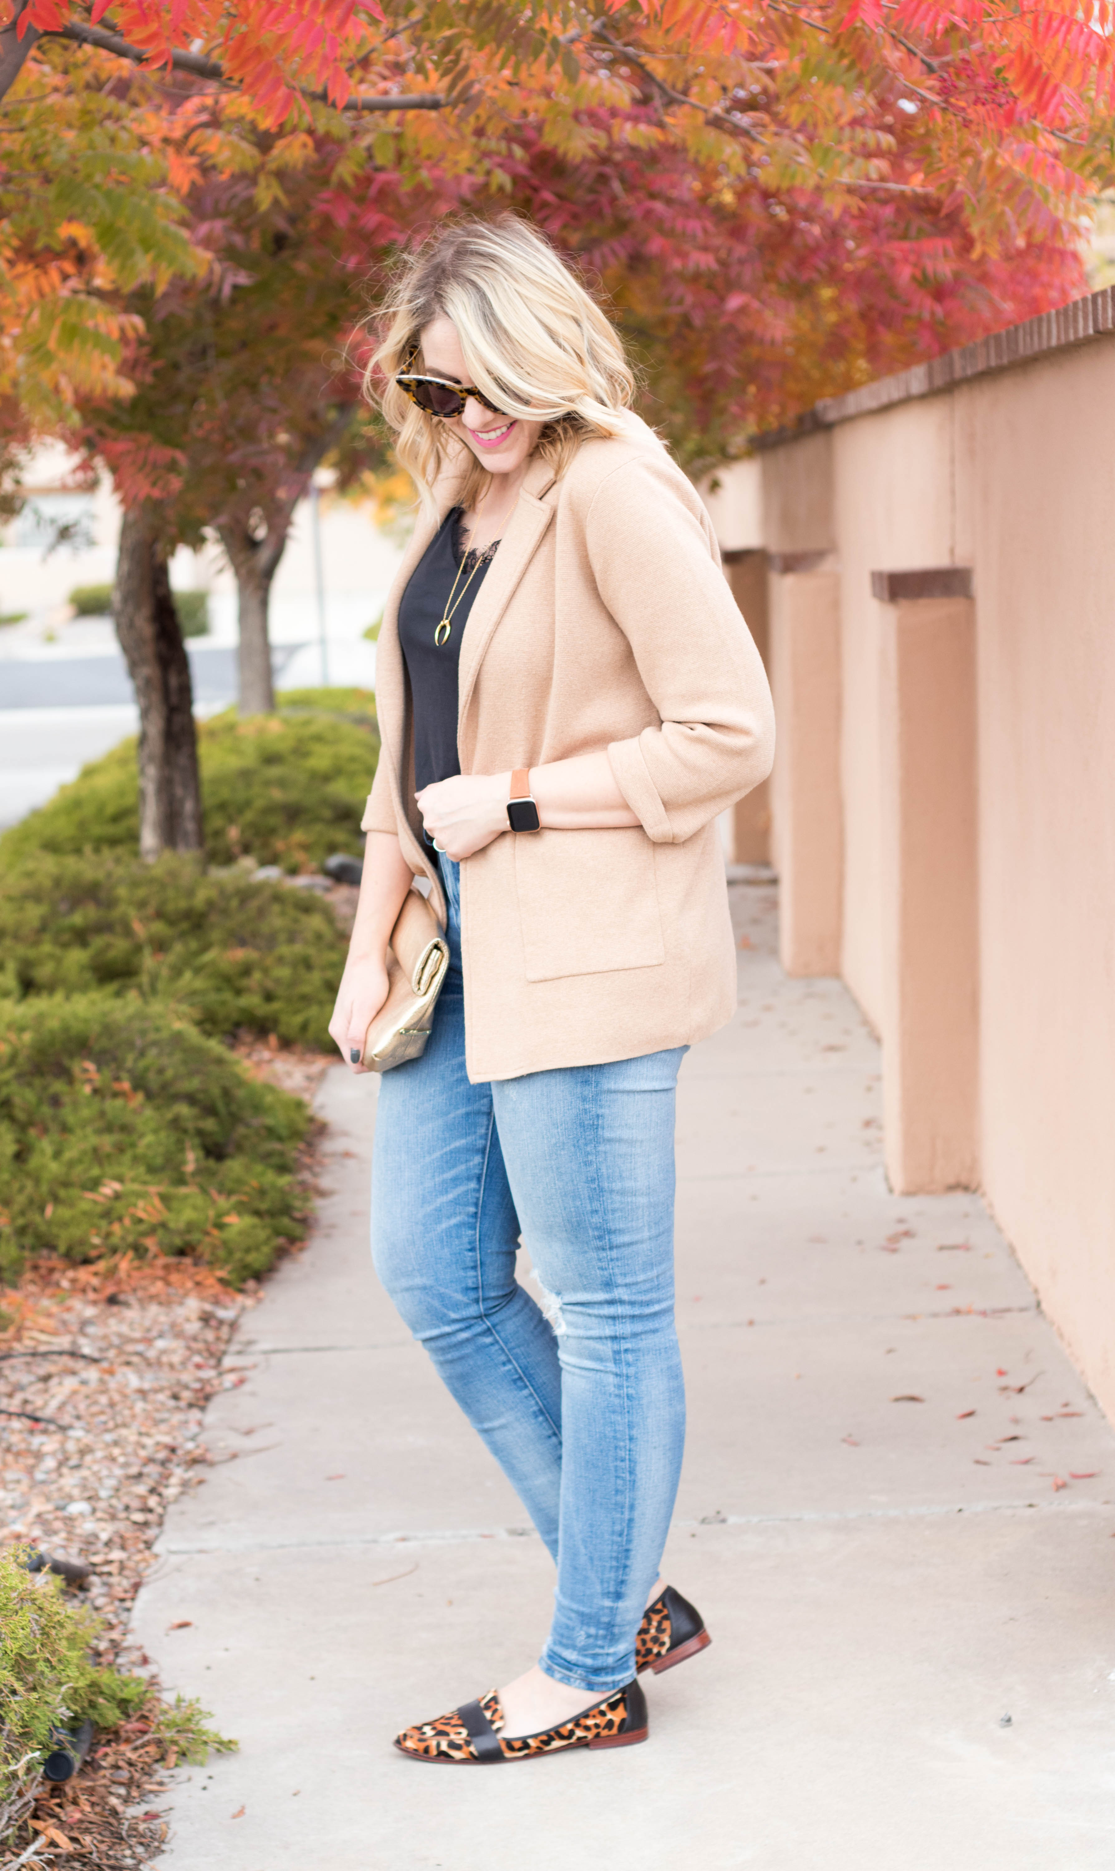
M 419 793 L 423 786 L 460 773 L 456 754 L 460 640 L 500 544 L 496 539 L 479 554 L 475 550 L 462 552 L 460 520 L 460 507 L 453 507 L 445 515 L 410 574 L 398 606 L 398 644 L 406 660 L 413 709 L 413 784 Z M 449 638 L 438 647 L 434 636 L 445 616 L 455 580 Z

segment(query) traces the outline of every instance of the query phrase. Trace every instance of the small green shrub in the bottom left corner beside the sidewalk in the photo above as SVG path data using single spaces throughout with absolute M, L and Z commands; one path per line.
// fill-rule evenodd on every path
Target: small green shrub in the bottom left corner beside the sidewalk
M 90 1650 L 101 1620 L 67 1598 L 52 1574 L 26 1572 L 26 1551 L 0 1553 L 0 1843 L 30 1809 L 54 1729 L 73 1731 L 86 1718 L 114 1729 L 153 1703 L 152 1733 L 163 1755 L 174 1749 L 200 1762 L 210 1748 L 236 1748 L 206 1725 L 196 1703 L 159 1704 L 146 1676 L 97 1667 Z

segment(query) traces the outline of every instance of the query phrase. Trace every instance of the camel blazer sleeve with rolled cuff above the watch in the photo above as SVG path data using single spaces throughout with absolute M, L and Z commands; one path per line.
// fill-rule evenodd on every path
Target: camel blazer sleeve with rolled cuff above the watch
M 696 490 L 664 455 L 597 486 L 586 541 L 659 724 L 614 741 L 615 784 L 655 844 L 683 844 L 765 780 L 775 707 Z

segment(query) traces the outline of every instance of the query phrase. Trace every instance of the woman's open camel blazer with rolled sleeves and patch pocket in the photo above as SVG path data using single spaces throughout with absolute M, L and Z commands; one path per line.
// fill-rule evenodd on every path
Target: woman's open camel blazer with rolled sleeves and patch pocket
M 398 602 L 456 477 L 434 488 L 387 597 L 376 655 L 382 754 L 365 831 L 436 863 L 413 801 Z M 462 773 L 608 750 L 638 827 L 513 833 L 460 866 L 473 1083 L 688 1046 L 735 1010 L 717 814 L 771 771 L 763 664 L 705 509 L 638 417 L 554 479 L 533 460 L 460 645 Z

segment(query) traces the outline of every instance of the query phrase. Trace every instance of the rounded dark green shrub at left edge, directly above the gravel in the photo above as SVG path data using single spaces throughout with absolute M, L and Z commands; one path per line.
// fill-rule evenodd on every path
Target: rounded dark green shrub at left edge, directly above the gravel
M 193 1254 L 236 1285 L 301 1237 L 301 1098 L 138 999 L 0 1005 L 0 1276 Z

